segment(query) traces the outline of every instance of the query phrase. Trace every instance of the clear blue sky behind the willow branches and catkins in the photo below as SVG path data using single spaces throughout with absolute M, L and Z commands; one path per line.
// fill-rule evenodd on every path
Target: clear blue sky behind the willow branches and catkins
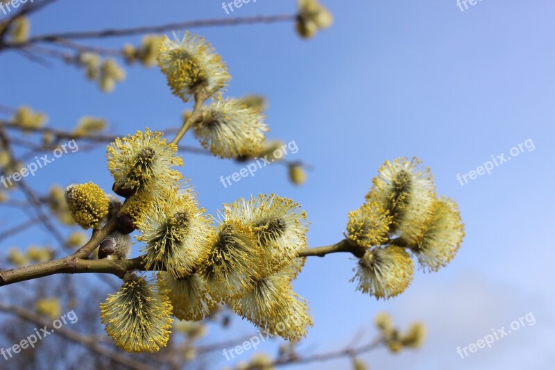
M 360 328 L 371 337 L 374 315 L 387 310 L 402 327 L 424 321 L 429 338 L 417 352 L 364 355 L 373 369 L 548 369 L 555 360 L 548 346 L 555 330 L 555 291 L 548 275 L 555 253 L 547 235 L 555 221 L 555 149 L 549 144 L 555 134 L 555 3 L 484 0 L 464 12 L 455 0 L 323 3 L 334 14 L 334 26 L 310 41 L 300 40 L 287 23 L 192 30 L 207 37 L 227 62 L 228 96 L 264 94 L 270 102 L 268 137 L 295 140 L 299 151 L 289 159 L 314 167 L 303 187 L 287 181 L 284 167 L 273 166 L 224 189 L 219 177 L 240 165 L 186 154 L 183 172 L 200 202 L 215 212 L 240 196 L 289 196 L 307 210 L 309 244 L 327 245 L 341 239 L 347 212 L 364 201 L 384 160 L 418 156 L 432 168 L 438 193 L 459 203 L 466 239 L 458 255 L 438 273 L 418 272 L 407 292 L 386 302 L 355 292 L 349 283 L 355 260 L 348 255 L 309 259 L 295 287 L 310 301 L 315 326 L 301 348 L 308 353 L 341 348 Z M 58 1 L 33 16 L 33 33 L 295 10 L 289 0 L 251 2 L 233 15 L 225 14 L 220 1 L 112 4 Z M 139 38 L 101 44 L 121 47 Z M 120 134 L 178 126 L 187 106 L 171 95 L 159 70 L 127 72 L 127 80 L 105 95 L 74 67 L 45 68 L 4 53 L 0 102 L 44 110 L 49 124 L 66 128 L 83 115 L 107 118 L 110 130 Z M 491 155 L 509 156 L 526 140 L 533 151 L 524 147 L 490 175 L 464 186 L 456 180 Z M 184 142 L 198 145 L 189 135 Z M 102 149 L 67 155 L 29 183 L 89 180 L 111 187 Z M 45 234 L 23 235 L 4 242 L 0 251 L 47 241 Z M 456 354 L 457 346 L 475 343 L 529 312 L 535 325 L 468 358 Z M 235 330 L 248 334 L 253 328 L 237 323 Z

